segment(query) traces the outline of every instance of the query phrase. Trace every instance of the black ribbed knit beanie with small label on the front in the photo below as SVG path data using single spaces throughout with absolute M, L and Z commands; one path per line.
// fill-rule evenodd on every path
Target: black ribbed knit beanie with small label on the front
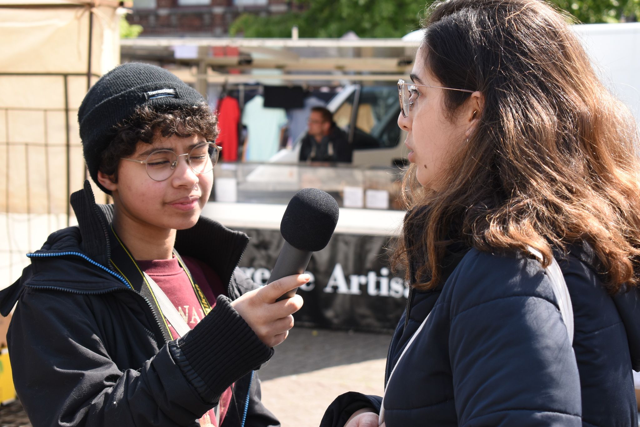
M 198 91 L 164 68 L 144 63 L 125 63 L 113 68 L 90 88 L 78 109 L 84 161 L 93 182 L 98 182 L 102 152 L 116 134 L 116 125 L 130 118 L 135 109 L 148 105 L 177 109 L 204 102 Z

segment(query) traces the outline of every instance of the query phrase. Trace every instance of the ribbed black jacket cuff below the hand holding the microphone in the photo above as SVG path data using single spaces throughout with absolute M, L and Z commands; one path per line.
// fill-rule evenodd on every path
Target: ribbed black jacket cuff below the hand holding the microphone
M 273 348 L 260 341 L 224 295 L 218 296 L 214 309 L 170 349 L 202 399 L 212 403 L 273 355 Z

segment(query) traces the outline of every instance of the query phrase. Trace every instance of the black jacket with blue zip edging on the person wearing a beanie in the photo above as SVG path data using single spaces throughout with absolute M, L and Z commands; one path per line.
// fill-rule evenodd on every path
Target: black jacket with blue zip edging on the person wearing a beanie
M 0 293 L 17 394 L 34 427 L 197 426 L 235 382 L 224 427 L 279 425 L 260 403 L 253 369 L 273 349 L 230 305 L 257 287 L 238 268 L 241 232 L 201 217 L 177 232 L 179 254 L 211 266 L 227 296 L 172 341 L 134 281 L 113 268 L 112 205 L 92 190 L 72 195 L 79 225 L 54 232 L 22 277 Z M 133 289 L 131 289 L 133 287 Z

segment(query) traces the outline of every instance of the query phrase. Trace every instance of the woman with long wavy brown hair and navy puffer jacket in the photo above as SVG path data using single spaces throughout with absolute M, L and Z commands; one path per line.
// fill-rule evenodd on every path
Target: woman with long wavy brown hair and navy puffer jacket
M 343 394 L 323 425 L 637 426 L 634 118 L 541 1 L 449 0 L 425 27 L 398 83 L 410 296 L 385 396 Z

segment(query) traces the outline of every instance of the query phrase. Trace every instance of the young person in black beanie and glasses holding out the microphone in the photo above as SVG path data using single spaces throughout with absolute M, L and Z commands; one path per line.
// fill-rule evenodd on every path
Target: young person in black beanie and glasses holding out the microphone
M 305 284 L 259 287 L 242 232 L 200 216 L 220 147 L 204 98 L 163 68 L 120 65 L 84 97 L 92 180 L 78 225 L 49 236 L 0 292 L 13 381 L 34 427 L 279 426 L 256 369 L 293 326 Z M 8 309 L 7 309 L 8 307 Z

